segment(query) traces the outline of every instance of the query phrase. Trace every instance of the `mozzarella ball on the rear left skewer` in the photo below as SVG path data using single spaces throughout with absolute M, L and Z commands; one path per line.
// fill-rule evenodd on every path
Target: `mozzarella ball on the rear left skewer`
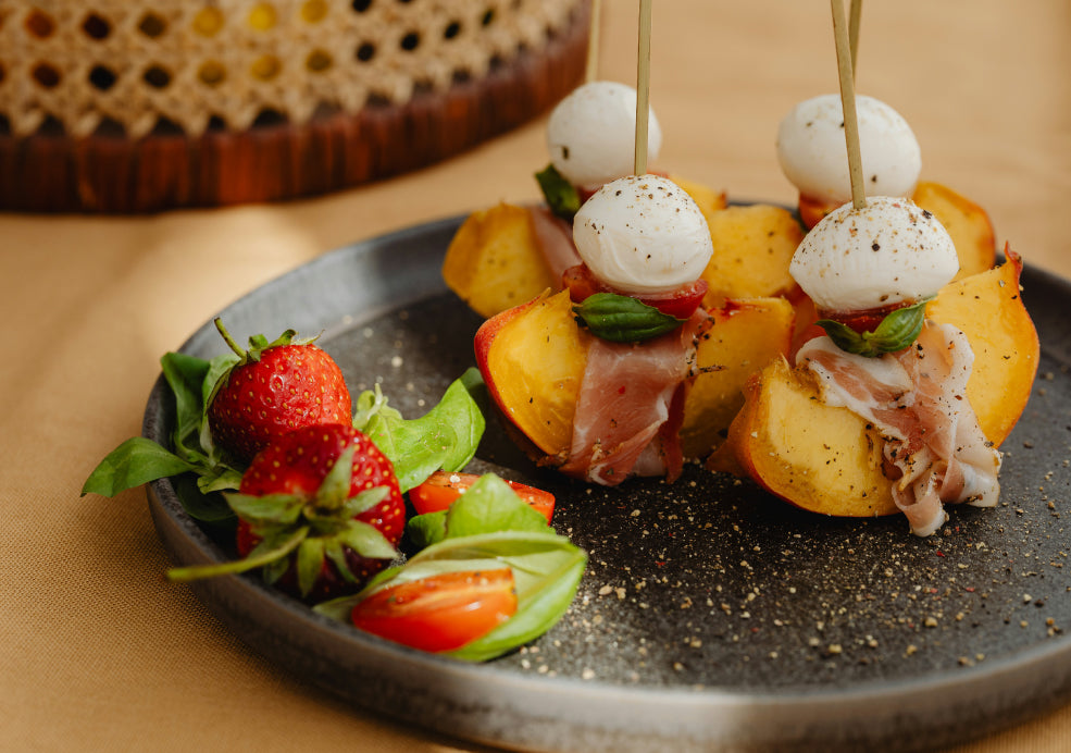
M 648 110 L 647 160 L 658 159 L 662 129 Z M 575 186 L 595 188 L 627 175 L 636 160 L 636 90 L 617 82 L 585 84 L 565 97 L 547 124 L 550 161 Z

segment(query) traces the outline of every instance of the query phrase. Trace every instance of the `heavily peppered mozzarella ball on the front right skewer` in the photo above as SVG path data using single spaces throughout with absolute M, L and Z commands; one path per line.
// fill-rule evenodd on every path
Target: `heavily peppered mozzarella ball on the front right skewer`
M 824 311 L 861 311 L 929 298 L 959 271 L 948 231 L 909 199 L 843 205 L 808 233 L 788 271 Z

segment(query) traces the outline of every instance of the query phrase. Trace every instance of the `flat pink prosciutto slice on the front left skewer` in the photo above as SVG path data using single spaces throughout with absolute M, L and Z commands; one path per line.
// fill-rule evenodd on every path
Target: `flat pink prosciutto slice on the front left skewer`
M 605 486 L 628 476 L 676 480 L 684 467 L 677 431 L 698 337 L 699 308 L 677 330 L 643 343 L 593 338 L 581 381 L 569 459 L 559 470 Z

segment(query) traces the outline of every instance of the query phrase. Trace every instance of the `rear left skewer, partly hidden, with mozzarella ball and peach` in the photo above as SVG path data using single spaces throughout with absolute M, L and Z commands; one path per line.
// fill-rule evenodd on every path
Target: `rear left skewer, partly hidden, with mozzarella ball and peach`
M 476 313 L 491 317 L 562 289 L 562 273 L 580 263 L 572 219 L 608 181 L 633 170 L 636 90 L 617 82 L 585 84 L 553 110 L 547 125 L 550 164 L 536 175 L 545 203 L 499 203 L 470 215 L 443 263 L 443 277 Z M 648 121 L 648 159 L 658 159 L 661 127 Z M 723 194 L 674 177 L 705 215 L 725 206 Z

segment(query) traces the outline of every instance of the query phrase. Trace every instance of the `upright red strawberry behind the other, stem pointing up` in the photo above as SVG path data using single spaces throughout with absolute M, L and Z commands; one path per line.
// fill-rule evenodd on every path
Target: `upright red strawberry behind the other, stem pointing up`
M 235 460 L 248 462 L 272 440 L 300 427 L 351 421 L 343 372 L 312 344 L 315 338 L 296 340 L 287 330 L 272 343 L 254 335 L 244 350 L 219 319 L 215 325 L 239 360 L 209 398 L 209 428 Z

